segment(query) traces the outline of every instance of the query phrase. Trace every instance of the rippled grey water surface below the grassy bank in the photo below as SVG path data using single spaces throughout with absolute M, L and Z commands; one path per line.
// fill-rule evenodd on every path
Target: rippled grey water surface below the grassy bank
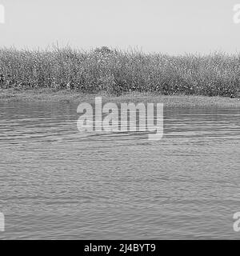
M 165 110 L 152 142 L 76 109 L 0 104 L 0 238 L 240 238 L 239 110 Z

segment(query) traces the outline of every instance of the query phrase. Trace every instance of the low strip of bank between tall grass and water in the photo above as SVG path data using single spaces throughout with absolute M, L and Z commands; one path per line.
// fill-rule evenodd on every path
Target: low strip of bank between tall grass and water
M 238 108 L 239 98 L 208 97 L 194 95 L 159 95 L 151 93 L 128 93 L 119 97 L 106 94 L 82 94 L 76 90 L 0 90 L 0 102 L 66 102 L 66 103 L 93 103 L 94 98 L 102 97 L 102 102 L 159 102 L 165 107 L 201 107 L 201 108 Z

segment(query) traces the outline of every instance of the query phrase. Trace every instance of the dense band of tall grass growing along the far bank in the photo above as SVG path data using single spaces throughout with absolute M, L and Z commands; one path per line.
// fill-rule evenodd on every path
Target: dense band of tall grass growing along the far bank
M 2 48 L 0 87 L 234 97 L 240 93 L 240 54 L 174 57 L 106 47 L 88 52 L 69 47 L 52 50 Z

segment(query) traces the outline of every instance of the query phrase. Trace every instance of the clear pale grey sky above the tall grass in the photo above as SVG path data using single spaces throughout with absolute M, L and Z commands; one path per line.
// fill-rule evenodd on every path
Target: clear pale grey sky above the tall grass
M 109 46 L 166 54 L 240 50 L 240 0 L 0 0 L 0 47 Z M 240 15 L 239 15 L 240 17 Z

